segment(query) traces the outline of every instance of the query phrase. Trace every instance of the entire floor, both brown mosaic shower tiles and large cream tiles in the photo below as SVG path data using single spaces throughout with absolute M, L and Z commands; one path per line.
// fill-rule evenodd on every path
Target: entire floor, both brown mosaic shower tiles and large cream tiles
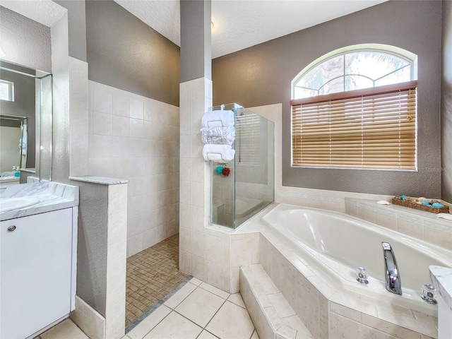
M 230 295 L 196 278 L 174 292 L 187 278 L 179 272 L 178 256 L 176 234 L 127 259 L 126 328 L 133 325 L 122 339 L 258 339 L 239 293 Z M 37 338 L 89 339 L 71 319 Z

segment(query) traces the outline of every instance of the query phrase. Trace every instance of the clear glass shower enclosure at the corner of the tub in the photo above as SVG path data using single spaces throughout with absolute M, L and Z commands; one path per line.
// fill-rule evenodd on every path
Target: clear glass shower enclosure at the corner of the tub
M 275 124 L 237 104 L 212 109 L 234 112 L 235 157 L 210 161 L 210 222 L 236 228 L 274 201 Z

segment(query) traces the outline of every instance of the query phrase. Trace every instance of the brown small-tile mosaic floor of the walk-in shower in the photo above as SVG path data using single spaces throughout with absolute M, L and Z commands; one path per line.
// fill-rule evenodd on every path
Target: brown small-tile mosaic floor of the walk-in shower
M 186 278 L 179 272 L 179 234 L 127 258 L 126 328 Z

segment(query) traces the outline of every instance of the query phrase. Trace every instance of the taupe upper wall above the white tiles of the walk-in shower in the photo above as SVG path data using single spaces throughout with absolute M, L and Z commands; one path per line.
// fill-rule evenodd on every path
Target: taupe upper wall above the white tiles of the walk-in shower
M 114 1 L 86 1 L 88 78 L 179 106 L 180 50 Z

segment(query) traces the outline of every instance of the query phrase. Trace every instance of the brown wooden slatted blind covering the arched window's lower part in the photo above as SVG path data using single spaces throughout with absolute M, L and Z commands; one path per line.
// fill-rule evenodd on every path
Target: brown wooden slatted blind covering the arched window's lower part
M 292 166 L 416 169 L 417 81 L 291 100 Z

